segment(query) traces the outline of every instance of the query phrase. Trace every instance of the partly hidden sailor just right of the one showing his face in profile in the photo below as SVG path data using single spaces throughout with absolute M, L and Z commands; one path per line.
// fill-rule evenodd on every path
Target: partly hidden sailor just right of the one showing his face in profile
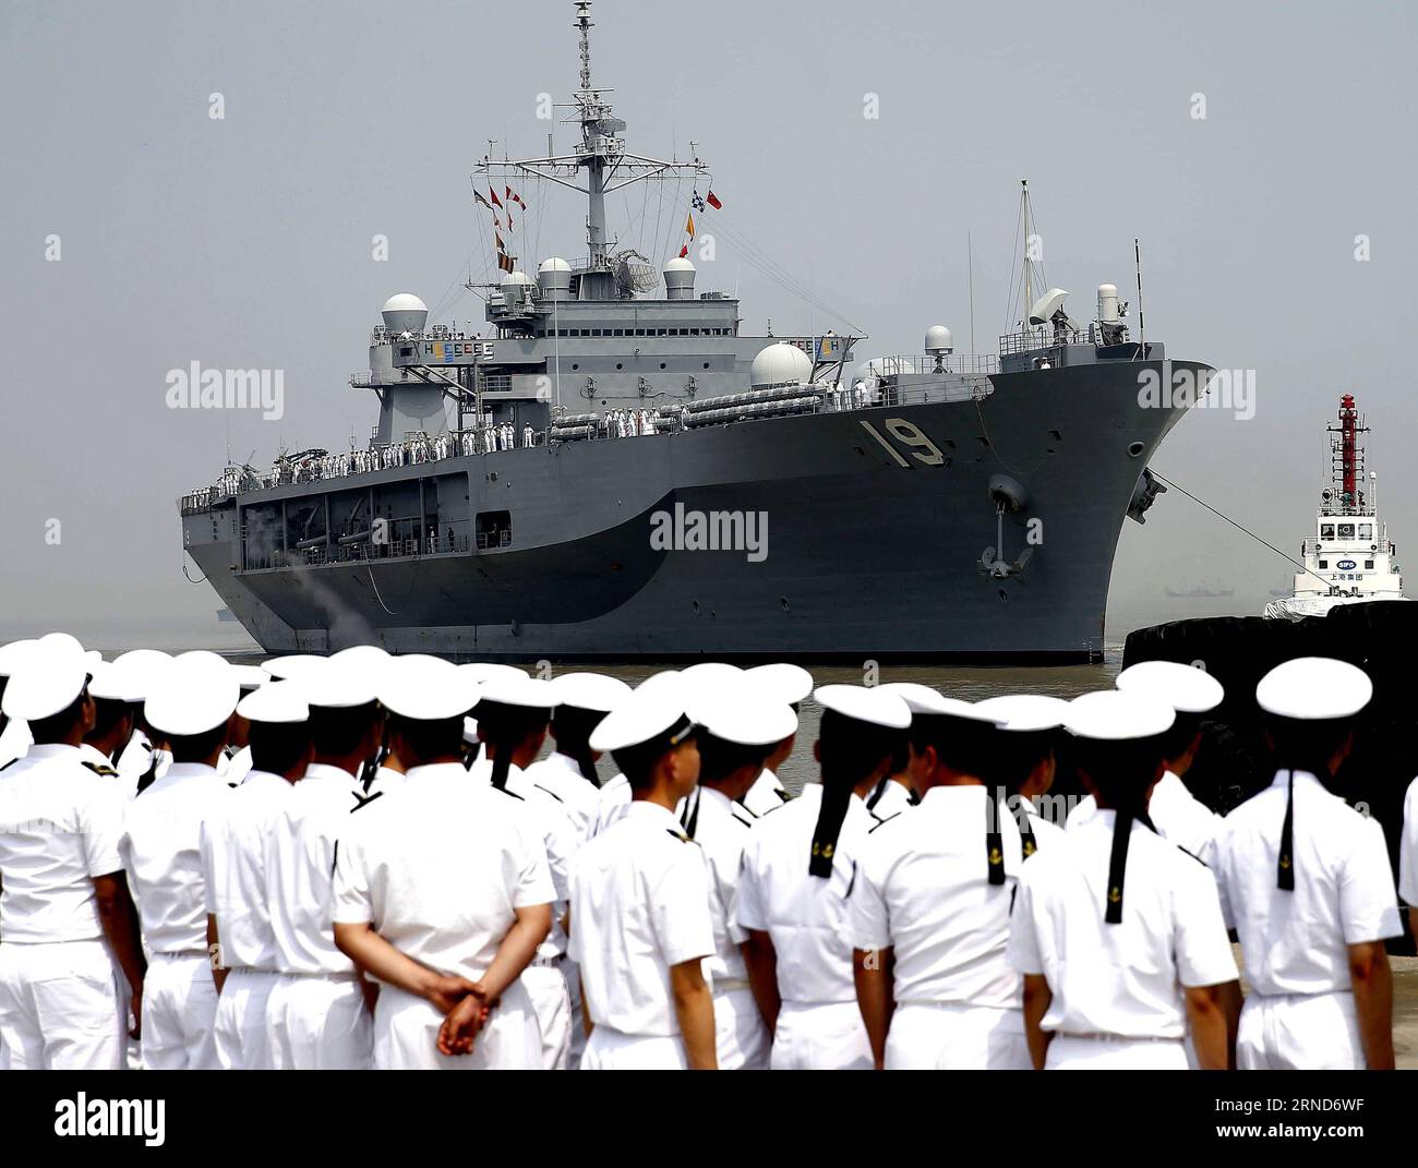
M 753 815 L 739 804 L 778 743 L 797 733 L 786 702 L 746 692 L 696 699 L 699 785 L 681 805 L 685 835 L 703 850 L 715 954 L 705 961 L 713 982 L 715 1043 L 720 1070 L 767 1070 L 771 1039 L 753 995 L 739 924 L 739 875 Z

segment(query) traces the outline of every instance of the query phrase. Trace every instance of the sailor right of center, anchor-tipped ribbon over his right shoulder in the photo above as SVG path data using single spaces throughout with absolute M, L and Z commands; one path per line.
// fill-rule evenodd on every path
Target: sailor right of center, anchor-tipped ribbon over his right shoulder
M 886 1070 L 1028 1070 L 1005 960 L 1022 835 L 987 780 L 998 714 L 929 686 L 895 692 L 923 795 L 873 826 L 859 856 L 849 933 L 872 1055 Z

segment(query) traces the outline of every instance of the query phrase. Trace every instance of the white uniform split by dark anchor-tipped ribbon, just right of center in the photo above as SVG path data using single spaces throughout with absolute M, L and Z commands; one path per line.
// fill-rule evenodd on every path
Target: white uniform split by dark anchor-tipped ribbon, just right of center
M 854 794 L 832 875 L 822 879 L 807 870 L 821 805 L 822 788 L 811 782 L 754 824 L 739 877 L 739 924 L 767 933 L 777 954 L 783 1005 L 773 1035 L 773 1070 L 871 1070 L 847 916 L 872 816 Z

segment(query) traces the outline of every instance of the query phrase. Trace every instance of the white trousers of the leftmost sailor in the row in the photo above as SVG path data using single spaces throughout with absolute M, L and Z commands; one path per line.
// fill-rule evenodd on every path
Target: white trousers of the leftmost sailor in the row
M 119 1070 L 119 1018 L 105 941 L 0 944 L 0 1069 Z

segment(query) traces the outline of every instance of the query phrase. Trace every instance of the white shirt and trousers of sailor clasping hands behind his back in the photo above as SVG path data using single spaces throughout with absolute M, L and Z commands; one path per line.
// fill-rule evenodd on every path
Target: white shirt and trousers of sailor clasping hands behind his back
M 372 924 L 441 974 L 479 979 L 518 909 L 556 899 L 546 848 L 506 795 L 469 782 L 462 763 L 414 767 L 400 790 L 350 815 L 335 859 L 333 919 Z M 384 985 L 374 1008 L 379 1070 L 530 1069 L 542 1065 L 532 1001 L 512 982 L 472 1055 L 440 1055 L 442 1015 Z

